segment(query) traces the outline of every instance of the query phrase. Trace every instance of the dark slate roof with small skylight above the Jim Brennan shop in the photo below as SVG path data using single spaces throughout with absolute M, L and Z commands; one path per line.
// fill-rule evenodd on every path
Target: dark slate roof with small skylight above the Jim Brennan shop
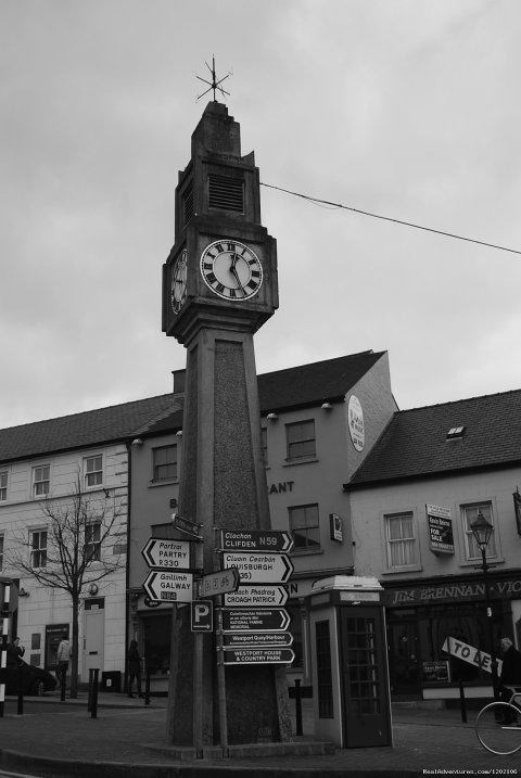
M 454 428 L 462 434 L 447 438 Z M 521 464 L 521 390 L 396 411 L 345 488 Z

